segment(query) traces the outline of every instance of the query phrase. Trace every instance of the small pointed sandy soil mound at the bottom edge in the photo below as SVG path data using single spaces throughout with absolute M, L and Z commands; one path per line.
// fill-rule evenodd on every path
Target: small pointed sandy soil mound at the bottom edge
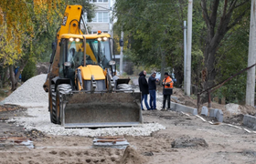
M 143 164 L 145 162 L 146 159 L 141 154 L 128 146 L 123 153 L 122 159 L 117 164 Z

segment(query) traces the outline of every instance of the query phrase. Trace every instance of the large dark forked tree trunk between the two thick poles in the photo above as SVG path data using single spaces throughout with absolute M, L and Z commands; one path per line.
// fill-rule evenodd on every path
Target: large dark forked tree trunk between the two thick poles
M 250 0 L 201 0 L 201 8 L 207 25 L 207 37 L 204 49 L 204 66 L 208 77 L 204 88 L 215 84 L 217 51 L 227 33 L 237 26 L 243 16 L 250 11 Z M 220 15 L 220 16 L 219 16 Z

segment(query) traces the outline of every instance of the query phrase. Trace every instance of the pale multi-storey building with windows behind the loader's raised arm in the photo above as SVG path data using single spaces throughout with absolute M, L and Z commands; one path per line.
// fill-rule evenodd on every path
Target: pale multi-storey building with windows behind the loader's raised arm
M 111 0 L 90 0 L 90 3 L 96 6 L 95 17 L 91 22 L 88 22 L 90 26 L 91 34 L 96 34 L 99 30 L 102 33 L 111 34 L 111 20 L 110 20 L 110 7 Z

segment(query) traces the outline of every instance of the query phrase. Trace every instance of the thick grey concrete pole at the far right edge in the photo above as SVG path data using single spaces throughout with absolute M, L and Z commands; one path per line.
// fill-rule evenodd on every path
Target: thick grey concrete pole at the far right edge
M 248 67 L 255 64 L 256 58 L 256 0 L 251 0 L 251 23 L 250 23 L 250 38 L 249 38 L 249 54 L 248 54 Z M 247 71 L 246 83 L 246 105 L 254 107 L 255 95 L 255 67 L 251 67 Z

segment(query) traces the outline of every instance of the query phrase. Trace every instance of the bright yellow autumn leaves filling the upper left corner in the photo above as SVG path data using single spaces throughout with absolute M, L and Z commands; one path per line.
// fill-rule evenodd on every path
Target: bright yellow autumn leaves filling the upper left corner
M 0 60 L 3 64 L 13 65 L 23 55 L 24 44 L 32 43 L 37 33 L 46 31 L 54 15 L 62 16 L 63 6 L 64 0 L 0 0 Z

